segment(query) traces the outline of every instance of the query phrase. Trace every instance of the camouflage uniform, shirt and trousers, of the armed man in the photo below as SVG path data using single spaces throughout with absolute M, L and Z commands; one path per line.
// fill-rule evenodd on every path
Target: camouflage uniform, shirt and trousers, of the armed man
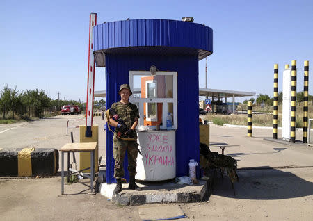
M 111 108 L 119 115 L 119 117 L 125 122 L 127 128 L 135 122 L 135 118 L 139 118 L 138 108 L 135 104 L 122 104 L 121 102 L 116 102 L 112 104 Z M 122 140 L 117 137 L 118 128 L 115 129 L 113 136 L 113 157 L 115 160 L 114 165 L 114 177 L 115 179 L 121 179 L 124 177 L 124 158 L 125 152 L 127 149 L 127 158 L 128 158 L 128 171 L 129 176 L 136 175 L 136 161 L 137 161 L 137 142 L 136 141 L 127 141 Z M 137 138 L 137 134 L 134 135 L 134 138 Z

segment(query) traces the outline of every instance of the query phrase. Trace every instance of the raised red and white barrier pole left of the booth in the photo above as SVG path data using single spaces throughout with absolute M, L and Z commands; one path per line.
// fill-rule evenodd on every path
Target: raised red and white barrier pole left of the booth
M 93 126 L 93 95 L 95 84 L 95 59 L 93 57 L 93 27 L 97 24 L 97 13 L 90 13 L 89 17 L 89 50 L 88 50 L 88 83 L 86 104 L 86 137 L 91 137 Z

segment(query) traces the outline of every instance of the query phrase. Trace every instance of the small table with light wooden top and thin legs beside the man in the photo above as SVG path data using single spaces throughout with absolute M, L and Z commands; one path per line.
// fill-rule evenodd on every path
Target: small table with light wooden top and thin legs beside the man
M 79 142 L 79 143 L 67 143 L 64 145 L 61 151 L 62 157 L 62 173 L 61 173 L 61 194 L 64 194 L 64 153 L 67 153 L 67 181 L 70 179 L 70 153 L 74 152 L 90 152 L 90 167 L 83 169 L 90 169 L 90 190 L 93 193 L 93 180 L 95 179 L 95 149 L 97 142 Z M 77 171 L 81 172 L 83 170 Z

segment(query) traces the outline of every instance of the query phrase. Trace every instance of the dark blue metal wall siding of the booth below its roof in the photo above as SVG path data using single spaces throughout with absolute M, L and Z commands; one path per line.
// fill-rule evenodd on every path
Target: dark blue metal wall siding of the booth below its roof
M 158 21 L 150 21 L 158 22 Z M 137 25 L 136 22 L 131 22 Z M 130 29 L 130 34 L 134 34 Z M 136 38 L 132 38 L 133 40 Z M 152 40 L 152 39 L 150 39 Z M 122 65 L 121 65 L 122 64 Z M 129 83 L 129 70 L 149 70 L 156 65 L 160 71 L 177 72 L 177 120 L 176 131 L 176 175 L 188 175 L 189 159 L 200 160 L 199 115 L 198 115 L 198 56 L 158 56 L 158 55 L 106 55 L 106 108 L 120 100 L 118 89 L 122 83 Z M 141 116 L 142 117 L 142 116 Z M 106 181 L 113 178 L 113 133 L 106 131 Z M 128 178 L 127 161 L 124 165 Z M 198 176 L 200 170 L 198 167 Z

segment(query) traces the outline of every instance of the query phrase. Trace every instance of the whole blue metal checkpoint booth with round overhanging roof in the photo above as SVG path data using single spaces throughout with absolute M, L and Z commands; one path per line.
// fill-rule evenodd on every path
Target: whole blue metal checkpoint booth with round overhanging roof
M 137 95 L 133 94 L 130 100 L 133 103 L 136 97 L 142 97 L 142 102 L 146 102 L 141 103 L 142 110 L 139 110 L 143 128 L 150 126 L 150 129 L 156 129 L 153 119 L 154 122 L 157 122 L 157 119 L 161 117 L 159 124 L 162 131 L 165 129 L 164 122 L 166 122 L 164 111 L 171 110 L 170 114 L 174 120 L 172 131 L 175 134 L 175 144 L 173 145 L 175 148 L 175 176 L 188 176 L 189 160 L 200 161 L 198 60 L 213 52 L 212 29 L 193 22 L 168 19 L 130 19 L 94 26 L 93 44 L 96 66 L 106 67 L 106 108 L 110 108 L 111 104 L 120 101 L 118 90 L 123 83 L 129 83 L 133 91 L 136 86 L 138 87 L 136 83 L 130 82 L 136 78 L 138 72 L 143 72 L 143 75 L 150 73 L 150 67 L 154 65 L 157 73 L 175 73 L 172 75 L 173 77 L 170 76 L 170 79 L 175 78 L 176 83 L 168 84 L 171 87 L 174 85 L 172 95 L 170 95 L 170 90 L 164 89 L 168 86 L 162 86 L 164 82 L 172 82 L 172 80 L 168 81 L 168 76 L 163 77 L 166 81 L 159 80 L 158 83 L 154 83 L 156 80 L 153 76 L 141 76 L 141 92 Z M 166 95 L 156 92 L 156 85 L 158 88 L 163 87 L 163 90 L 167 91 Z M 152 90 L 150 90 L 151 88 Z M 176 97 L 173 97 L 173 94 Z M 154 103 L 148 104 L 148 95 L 155 98 Z M 168 103 L 162 103 L 163 100 Z M 163 136 L 163 138 L 168 139 L 167 136 Z M 115 183 L 112 139 L 113 133 L 106 130 L 107 183 Z M 167 143 L 168 140 L 164 142 Z M 144 158 L 144 154 L 142 157 Z M 153 161 L 154 163 L 162 163 L 162 161 L 164 163 L 168 159 L 160 156 L 157 159 L 154 158 Z M 126 179 L 129 178 L 127 164 L 125 159 Z M 200 176 L 199 167 L 197 176 Z

